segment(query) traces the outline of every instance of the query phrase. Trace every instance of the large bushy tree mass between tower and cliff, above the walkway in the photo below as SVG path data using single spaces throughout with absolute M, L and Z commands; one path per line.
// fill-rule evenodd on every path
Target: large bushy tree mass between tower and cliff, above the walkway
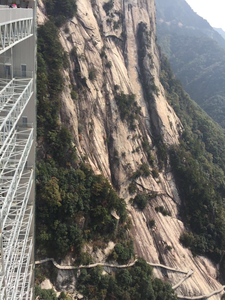
M 110 212 L 120 215 L 119 222 Z M 86 218 L 85 226 L 80 220 Z M 57 168 L 53 158 L 37 164 L 37 253 L 62 257 L 80 251 L 85 241 L 101 237 L 108 242 L 122 226 L 126 226 L 125 200 L 119 198 L 103 175 L 95 175 L 90 167 Z

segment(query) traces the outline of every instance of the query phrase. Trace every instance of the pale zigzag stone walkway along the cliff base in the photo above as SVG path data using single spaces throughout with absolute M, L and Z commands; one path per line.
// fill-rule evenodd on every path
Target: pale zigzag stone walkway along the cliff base
M 93 267 L 96 267 L 97 265 L 102 265 L 102 266 L 106 266 L 106 267 L 113 267 L 113 268 L 127 268 L 127 267 L 131 267 L 132 265 L 135 264 L 135 262 L 137 261 L 137 259 L 130 263 L 130 264 L 127 264 L 127 265 L 116 265 L 116 264 L 109 264 L 109 263 L 106 263 L 106 262 L 96 262 L 94 264 L 91 264 L 91 265 L 79 265 L 79 266 L 73 266 L 73 265 L 59 265 L 54 258 L 46 258 L 46 259 L 43 259 L 43 260 L 38 260 L 35 262 L 35 265 L 38 265 L 40 263 L 44 263 L 44 262 L 48 262 L 48 261 L 52 261 L 53 264 L 56 266 L 56 268 L 58 269 L 64 269 L 64 270 L 71 270 L 71 269 L 79 269 L 79 268 L 93 268 Z M 175 272 L 180 272 L 180 273 L 184 273 L 186 274 L 184 276 L 184 278 L 182 278 L 176 285 L 172 286 L 173 289 L 177 289 L 181 283 L 184 282 L 184 280 L 186 280 L 188 277 L 190 277 L 194 271 L 189 269 L 188 271 L 184 271 L 184 270 L 180 270 L 178 268 L 170 268 L 170 267 L 167 267 L 166 265 L 161 265 L 161 264 L 156 264 L 156 263 L 151 263 L 151 262 L 147 262 L 149 265 L 153 266 L 153 267 L 161 267 L 161 268 L 165 268 L 165 269 L 168 269 L 168 270 L 171 270 L 171 271 L 175 271 Z M 215 294 L 218 294 L 220 292 L 223 291 L 223 289 L 225 288 L 225 286 L 222 286 L 220 289 L 217 289 L 216 291 L 213 291 L 211 292 L 210 294 L 208 295 L 201 295 L 201 296 L 183 296 L 183 295 L 177 295 L 178 298 L 181 298 L 181 299 L 203 299 L 203 298 L 208 298 L 208 297 L 211 297 L 212 295 L 215 295 Z

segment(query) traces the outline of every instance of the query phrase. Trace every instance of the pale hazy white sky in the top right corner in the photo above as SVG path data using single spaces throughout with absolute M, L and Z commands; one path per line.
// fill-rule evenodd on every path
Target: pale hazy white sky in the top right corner
M 212 27 L 225 31 L 225 1 L 224 0 L 186 0 L 191 8 L 206 19 Z

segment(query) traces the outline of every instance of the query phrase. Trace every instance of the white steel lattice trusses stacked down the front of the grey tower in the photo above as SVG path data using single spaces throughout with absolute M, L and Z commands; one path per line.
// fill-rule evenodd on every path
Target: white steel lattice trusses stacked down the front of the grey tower
M 7 31 L 19 26 L 21 34 L 8 38 L 4 47 L 31 31 L 23 21 L 7 24 Z M 20 25 L 19 25 L 20 24 Z M 0 26 L 2 28 L 2 26 Z M 2 29 L 1 29 L 2 30 Z M 17 29 L 16 29 L 17 32 Z M 12 32 L 9 33 L 12 36 Z M 0 33 L 0 45 L 2 31 Z M 5 58 L 4 58 L 5 59 Z M 32 299 L 33 236 L 29 235 L 34 207 L 29 194 L 34 180 L 33 166 L 26 162 L 34 140 L 33 124 L 19 123 L 33 95 L 33 73 L 13 71 L 13 79 L 0 79 L 0 299 Z

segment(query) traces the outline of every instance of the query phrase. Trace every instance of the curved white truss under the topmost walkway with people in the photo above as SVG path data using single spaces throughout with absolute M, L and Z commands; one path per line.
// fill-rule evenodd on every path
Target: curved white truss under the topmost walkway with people
M 8 21 L 0 24 L 0 54 L 16 43 L 32 36 L 33 18 Z

